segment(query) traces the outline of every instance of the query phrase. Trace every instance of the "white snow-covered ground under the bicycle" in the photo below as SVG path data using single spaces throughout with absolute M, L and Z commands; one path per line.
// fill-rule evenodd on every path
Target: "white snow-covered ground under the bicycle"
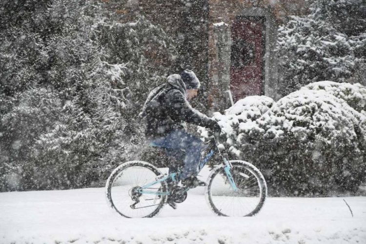
M 268 198 L 255 217 L 227 218 L 210 211 L 199 187 L 176 210 L 126 219 L 107 207 L 104 188 L 7 192 L 0 243 L 366 244 L 366 197 Z

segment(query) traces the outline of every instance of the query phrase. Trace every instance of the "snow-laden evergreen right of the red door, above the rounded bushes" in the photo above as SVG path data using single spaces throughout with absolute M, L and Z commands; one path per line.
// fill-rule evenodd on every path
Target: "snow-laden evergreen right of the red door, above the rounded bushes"
M 344 82 L 365 64 L 365 8 L 363 0 L 315 0 L 309 15 L 279 28 L 282 95 L 315 81 Z

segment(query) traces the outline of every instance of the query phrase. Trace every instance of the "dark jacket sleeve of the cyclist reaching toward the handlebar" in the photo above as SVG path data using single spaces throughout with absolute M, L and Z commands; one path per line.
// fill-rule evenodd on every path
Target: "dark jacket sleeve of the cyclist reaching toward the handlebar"
M 208 118 L 200 111 L 194 109 L 178 90 L 171 90 L 166 94 L 166 109 L 169 111 L 169 116 L 176 122 L 184 121 L 193 123 L 203 127 L 212 128 L 215 121 Z

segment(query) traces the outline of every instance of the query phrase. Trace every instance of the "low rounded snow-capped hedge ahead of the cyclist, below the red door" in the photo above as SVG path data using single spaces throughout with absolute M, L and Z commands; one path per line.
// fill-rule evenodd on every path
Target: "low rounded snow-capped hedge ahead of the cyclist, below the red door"
M 357 190 L 366 174 L 363 114 L 325 90 L 308 88 L 267 103 L 258 117 L 250 114 L 261 110 L 260 102 L 228 113 L 244 100 L 225 115 L 215 114 L 227 131 L 219 141 L 230 158 L 254 163 L 263 171 L 272 195 Z M 204 137 L 207 132 L 200 130 Z

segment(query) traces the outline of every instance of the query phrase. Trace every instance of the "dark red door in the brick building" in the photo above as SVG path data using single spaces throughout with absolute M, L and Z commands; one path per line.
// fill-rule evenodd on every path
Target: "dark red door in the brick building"
M 264 17 L 237 17 L 231 28 L 230 88 L 234 102 L 264 94 Z

